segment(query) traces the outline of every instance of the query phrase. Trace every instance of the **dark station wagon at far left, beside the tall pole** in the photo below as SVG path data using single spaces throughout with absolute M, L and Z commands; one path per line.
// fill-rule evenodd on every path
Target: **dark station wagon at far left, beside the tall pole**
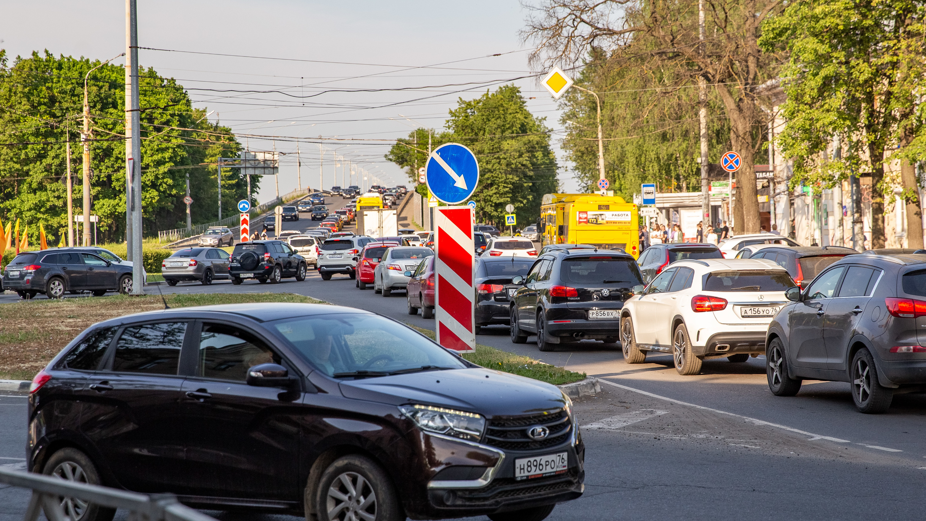
M 24 299 L 38 293 L 60 299 L 65 292 L 83 290 L 95 296 L 130 293 L 131 284 L 131 266 L 110 262 L 91 248 L 49 248 L 16 255 L 6 265 L 3 287 Z

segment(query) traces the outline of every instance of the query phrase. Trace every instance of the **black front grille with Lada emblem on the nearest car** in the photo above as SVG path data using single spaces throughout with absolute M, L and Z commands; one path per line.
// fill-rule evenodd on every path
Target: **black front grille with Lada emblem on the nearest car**
M 528 428 L 543 426 L 550 429 L 544 440 L 532 440 Z M 489 421 L 483 442 L 507 451 L 533 451 L 560 445 L 569 440 L 572 424 L 565 410 L 551 414 L 503 416 Z

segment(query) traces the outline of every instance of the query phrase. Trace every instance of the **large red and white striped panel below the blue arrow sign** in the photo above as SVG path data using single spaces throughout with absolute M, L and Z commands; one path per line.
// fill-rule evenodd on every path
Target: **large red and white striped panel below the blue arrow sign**
M 437 343 L 460 353 L 476 349 L 476 324 L 473 316 L 476 292 L 472 287 L 475 265 L 473 224 L 473 211 L 469 206 L 434 208 L 434 225 L 437 229 L 434 242 L 437 256 L 434 263 Z

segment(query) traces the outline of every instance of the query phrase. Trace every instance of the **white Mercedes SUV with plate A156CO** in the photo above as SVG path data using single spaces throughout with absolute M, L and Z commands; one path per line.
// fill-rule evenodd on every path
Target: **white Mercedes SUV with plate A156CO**
M 672 354 L 680 375 L 696 375 L 706 358 L 745 362 L 765 354 L 766 330 L 793 286 L 783 267 L 765 259 L 676 261 L 624 303 L 624 361 Z

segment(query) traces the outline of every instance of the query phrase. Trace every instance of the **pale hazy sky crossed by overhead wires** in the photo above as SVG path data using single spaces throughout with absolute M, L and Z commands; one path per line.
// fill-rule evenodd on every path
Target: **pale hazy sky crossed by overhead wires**
M 6 2 L 3 11 L 0 46 L 11 57 L 48 49 L 56 55 L 105 60 L 125 51 L 125 4 L 118 0 Z M 519 42 L 524 18 L 517 0 L 138 0 L 140 46 L 195 52 L 140 50 L 139 62 L 176 78 L 195 106 L 215 111 L 211 120 L 219 118 L 239 133 L 282 136 L 275 144 L 287 154 L 282 156 L 279 176 L 284 193 L 296 187 L 292 138 L 388 140 L 406 137 L 418 123 L 440 129 L 459 97 L 471 99 L 486 89 L 535 74 L 527 65 L 528 45 Z M 123 58 L 114 63 L 124 63 Z M 535 98 L 528 103 L 532 113 L 546 117 L 547 126 L 560 130 L 557 104 L 536 79 L 514 82 L 525 97 Z M 448 84 L 456 85 L 443 86 Z M 432 88 L 331 92 L 310 98 L 194 90 L 282 90 L 304 96 L 326 89 L 422 86 Z M 553 137 L 560 158 L 558 177 L 563 188 L 572 192 L 577 183 L 561 158 L 561 135 Z M 274 147 L 271 139 L 239 140 L 252 150 Z M 327 141 L 322 146 L 319 152 L 317 143 L 299 144 L 303 186 L 318 188 L 322 154 L 321 184 L 326 188 L 342 184 L 343 168 L 335 166 L 336 155 L 365 168 L 381 184 L 409 184 L 404 172 L 382 157 L 390 143 Z M 349 181 L 344 183 L 359 184 L 357 176 Z M 274 194 L 274 180 L 267 177 L 258 199 L 268 201 Z

